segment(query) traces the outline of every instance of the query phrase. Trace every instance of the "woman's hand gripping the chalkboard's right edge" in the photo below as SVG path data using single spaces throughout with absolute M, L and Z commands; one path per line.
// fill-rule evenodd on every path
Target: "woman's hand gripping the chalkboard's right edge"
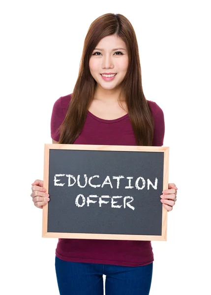
M 175 202 L 177 201 L 177 186 L 174 183 L 169 183 L 169 189 L 162 191 L 162 195 L 160 196 L 160 202 L 163 203 L 163 207 L 168 211 L 173 209 L 175 206 Z

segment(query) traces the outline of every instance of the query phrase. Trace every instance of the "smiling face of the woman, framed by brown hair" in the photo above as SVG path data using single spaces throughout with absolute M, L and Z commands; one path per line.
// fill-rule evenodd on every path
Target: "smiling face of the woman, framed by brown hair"
M 108 90 L 117 88 L 127 72 L 126 44 L 117 35 L 102 38 L 92 52 L 89 65 L 91 76 L 98 86 Z M 115 76 L 108 78 L 102 76 L 111 73 Z

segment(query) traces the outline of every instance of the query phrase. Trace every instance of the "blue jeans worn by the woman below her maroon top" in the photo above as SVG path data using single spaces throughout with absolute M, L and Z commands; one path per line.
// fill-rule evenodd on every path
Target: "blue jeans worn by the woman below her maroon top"
M 152 265 L 115 266 L 67 262 L 56 257 L 55 266 L 60 295 L 149 295 Z

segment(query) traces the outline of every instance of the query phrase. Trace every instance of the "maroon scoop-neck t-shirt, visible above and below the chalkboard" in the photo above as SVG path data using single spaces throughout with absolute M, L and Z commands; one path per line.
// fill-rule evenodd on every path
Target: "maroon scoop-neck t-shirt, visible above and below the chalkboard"
M 58 128 L 65 118 L 71 94 L 60 97 L 51 117 L 51 137 L 59 141 Z M 148 101 L 154 118 L 153 146 L 162 146 L 165 132 L 161 108 Z M 101 119 L 89 111 L 86 122 L 74 144 L 136 146 L 128 114 L 121 118 Z M 51 196 L 50 196 L 51 197 Z M 59 238 L 56 256 L 65 261 L 144 266 L 153 262 L 151 241 Z

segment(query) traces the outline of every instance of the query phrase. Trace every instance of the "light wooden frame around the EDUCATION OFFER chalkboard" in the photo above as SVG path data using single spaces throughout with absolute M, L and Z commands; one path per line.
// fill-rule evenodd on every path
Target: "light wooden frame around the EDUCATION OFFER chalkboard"
M 49 152 L 50 149 L 80 149 L 80 150 L 114 150 L 114 151 L 148 151 L 164 152 L 163 190 L 168 189 L 169 147 L 143 146 L 100 146 L 100 145 L 62 145 L 45 144 L 44 148 L 44 178 L 43 186 L 48 193 L 49 184 Z M 114 235 L 114 234 L 81 234 L 81 233 L 48 233 L 48 204 L 43 206 L 42 237 L 83 238 L 83 239 L 115 239 L 115 240 L 167 240 L 167 209 L 162 208 L 162 235 Z

